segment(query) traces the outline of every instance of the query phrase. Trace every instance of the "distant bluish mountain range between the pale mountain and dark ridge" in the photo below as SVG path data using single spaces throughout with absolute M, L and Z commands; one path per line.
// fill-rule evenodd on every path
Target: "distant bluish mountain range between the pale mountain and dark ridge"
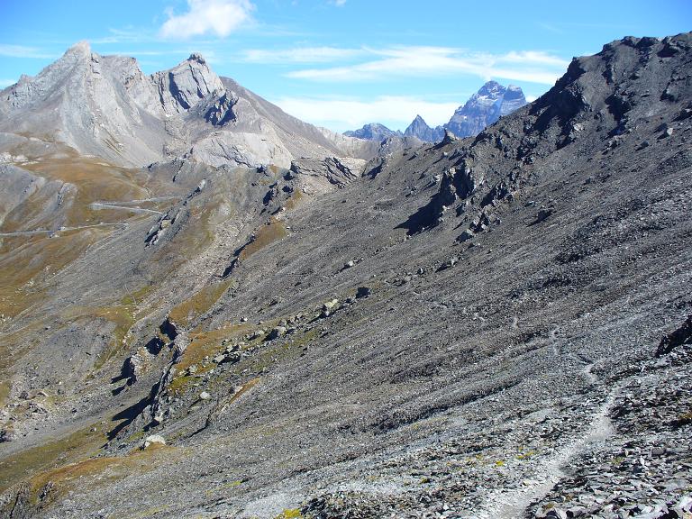
M 423 142 L 442 141 L 444 131 L 450 130 L 459 138 L 478 135 L 490 124 L 514 110 L 526 105 L 521 87 L 503 87 L 496 81 L 488 81 L 476 94 L 461 105 L 451 116 L 449 123 L 431 128 L 416 115 L 405 132 L 392 131 L 379 123 L 369 123 L 359 130 L 344 132 L 344 135 L 370 141 L 384 141 L 392 137 L 415 137 Z

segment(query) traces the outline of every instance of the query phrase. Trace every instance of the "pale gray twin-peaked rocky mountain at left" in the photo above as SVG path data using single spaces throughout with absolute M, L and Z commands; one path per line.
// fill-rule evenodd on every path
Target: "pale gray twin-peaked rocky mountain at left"
M 193 54 L 145 76 L 132 58 L 77 43 L 0 96 L 0 150 L 16 135 L 59 141 L 117 166 L 189 157 L 210 165 L 288 168 L 302 156 L 369 158 L 375 148 L 283 113 Z

